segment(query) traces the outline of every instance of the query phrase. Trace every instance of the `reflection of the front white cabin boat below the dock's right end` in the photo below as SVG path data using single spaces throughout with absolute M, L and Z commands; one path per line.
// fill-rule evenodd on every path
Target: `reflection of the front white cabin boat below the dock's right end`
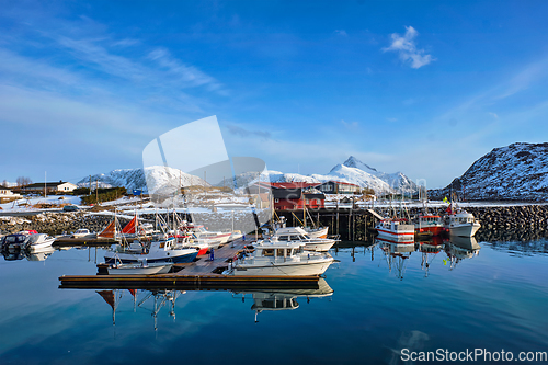
M 333 289 L 329 286 L 324 278 L 320 277 L 317 289 L 276 289 L 276 290 L 241 290 L 232 292 L 235 295 L 240 295 L 242 301 L 246 301 L 246 295 L 251 294 L 253 305 L 251 310 L 255 311 L 255 322 L 259 322 L 258 315 L 263 311 L 281 311 L 294 310 L 299 307 L 297 298 L 321 298 L 333 295 Z

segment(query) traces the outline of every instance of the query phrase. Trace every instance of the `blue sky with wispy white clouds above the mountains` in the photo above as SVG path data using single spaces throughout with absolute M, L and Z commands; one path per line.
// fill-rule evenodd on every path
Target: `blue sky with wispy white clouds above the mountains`
M 217 115 L 231 156 L 445 186 L 543 142 L 546 1 L 0 1 L 0 181 L 76 182 Z

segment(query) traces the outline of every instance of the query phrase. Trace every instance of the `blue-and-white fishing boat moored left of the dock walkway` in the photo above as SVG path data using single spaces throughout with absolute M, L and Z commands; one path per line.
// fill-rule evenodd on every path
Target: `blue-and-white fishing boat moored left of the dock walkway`
M 118 243 L 113 250 L 105 252 L 106 263 L 138 263 L 144 259 L 148 263 L 173 262 L 184 263 L 193 262 L 198 254 L 195 248 L 184 248 L 178 246 L 175 238 L 156 238 L 150 242 L 134 241 L 129 244 Z

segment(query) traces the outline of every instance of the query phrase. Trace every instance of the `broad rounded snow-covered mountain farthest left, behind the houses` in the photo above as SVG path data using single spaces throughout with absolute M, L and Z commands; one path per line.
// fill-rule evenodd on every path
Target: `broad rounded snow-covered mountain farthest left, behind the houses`
M 141 189 L 144 192 L 157 191 L 165 186 L 209 186 L 204 180 L 182 172 L 173 168 L 155 166 L 146 169 L 118 169 L 107 174 L 100 173 L 91 176 L 92 186 L 99 181 L 100 187 L 124 186 L 127 191 Z M 147 187 L 148 182 L 148 187 Z M 82 179 L 77 183 L 79 186 L 88 187 L 90 179 Z

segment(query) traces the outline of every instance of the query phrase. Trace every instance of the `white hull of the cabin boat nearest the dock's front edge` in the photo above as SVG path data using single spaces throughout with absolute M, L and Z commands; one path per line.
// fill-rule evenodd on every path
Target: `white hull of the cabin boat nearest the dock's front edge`
M 321 275 L 328 270 L 333 262 L 333 258 L 323 260 L 276 263 L 259 265 L 237 265 L 233 270 L 233 275 L 287 275 L 287 276 L 309 276 Z

